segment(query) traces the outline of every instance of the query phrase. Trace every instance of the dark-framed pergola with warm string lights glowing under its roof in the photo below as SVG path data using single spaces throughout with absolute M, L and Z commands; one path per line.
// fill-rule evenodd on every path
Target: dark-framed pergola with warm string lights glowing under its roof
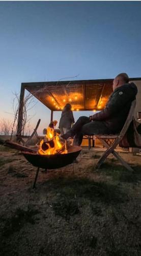
M 130 78 L 136 80 L 136 78 Z M 24 91 L 29 91 L 51 111 L 62 111 L 70 102 L 72 111 L 99 111 L 112 93 L 113 79 L 21 83 L 17 135 L 21 135 Z

